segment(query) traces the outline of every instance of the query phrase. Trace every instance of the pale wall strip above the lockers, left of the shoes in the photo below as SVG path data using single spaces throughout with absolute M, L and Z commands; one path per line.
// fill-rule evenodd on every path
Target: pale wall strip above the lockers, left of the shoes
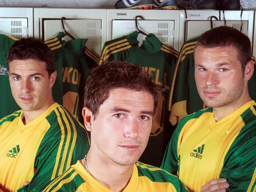
M 0 7 L 115 7 L 116 0 L 0 0 Z

